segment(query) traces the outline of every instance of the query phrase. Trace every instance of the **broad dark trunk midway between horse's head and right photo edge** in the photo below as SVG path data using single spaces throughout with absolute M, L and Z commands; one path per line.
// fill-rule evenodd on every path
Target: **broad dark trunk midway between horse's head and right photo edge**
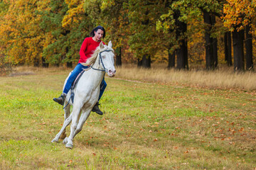
M 177 69 L 188 69 L 188 43 L 186 42 L 185 38 L 182 37 L 186 33 L 187 24 L 181 21 L 178 21 L 180 16 L 179 11 L 176 11 L 174 14 L 174 18 L 176 20 L 176 39 L 178 40 L 178 49 L 176 50 L 177 56 Z

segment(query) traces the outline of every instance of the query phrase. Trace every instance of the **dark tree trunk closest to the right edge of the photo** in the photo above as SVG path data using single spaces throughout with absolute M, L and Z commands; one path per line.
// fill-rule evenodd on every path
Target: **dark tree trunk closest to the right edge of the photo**
M 251 27 L 248 25 L 245 27 L 245 61 L 246 61 L 246 69 L 253 69 L 253 61 L 252 61 L 252 34 L 250 33 Z

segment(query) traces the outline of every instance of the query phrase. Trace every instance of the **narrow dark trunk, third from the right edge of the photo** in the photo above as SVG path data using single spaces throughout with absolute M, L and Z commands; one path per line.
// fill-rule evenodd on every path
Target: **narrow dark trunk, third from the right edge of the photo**
M 228 66 L 232 66 L 232 55 L 231 55 L 231 33 L 226 32 L 224 36 L 224 47 L 225 47 L 225 61 Z

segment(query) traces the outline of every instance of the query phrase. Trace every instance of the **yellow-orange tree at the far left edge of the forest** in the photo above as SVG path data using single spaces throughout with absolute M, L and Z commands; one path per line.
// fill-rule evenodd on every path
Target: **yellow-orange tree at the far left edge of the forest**
M 48 1 L 5 1 L 8 10 L 1 17 L 0 36 L 6 59 L 14 64 L 33 63 L 39 66 L 45 40 L 39 27 L 40 11 Z

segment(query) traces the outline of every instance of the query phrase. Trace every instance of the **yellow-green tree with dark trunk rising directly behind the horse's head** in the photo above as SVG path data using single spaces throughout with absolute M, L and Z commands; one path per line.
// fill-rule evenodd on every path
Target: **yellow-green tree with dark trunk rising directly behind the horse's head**
M 116 55 L 116 65 L 122 65 L 122 48 L 127 44 L 129 30 L 127 29 L 127 1 L 90 0 L 85 2 L 87 18 L 95 26 L 103 26 L 107 32 L 105 42 L 112 41 Z

